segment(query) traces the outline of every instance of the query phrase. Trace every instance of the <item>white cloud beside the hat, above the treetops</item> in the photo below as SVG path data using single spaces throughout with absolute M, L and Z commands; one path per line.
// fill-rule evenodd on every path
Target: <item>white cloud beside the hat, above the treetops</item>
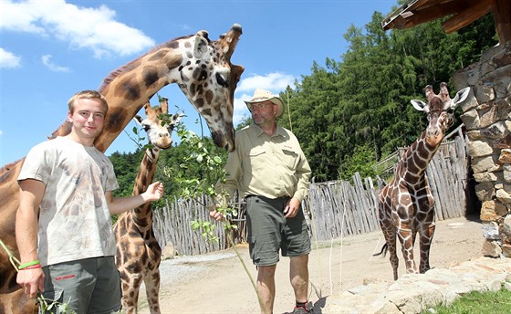
M 234 124 L 239 124 L 244 115 L 250 117 L 250 111 L 246 108 L 245 100 L 252 99 L 254 89 L 267 89 L 278 94 L 286 89 L 287 86 L 293 86 L 295 79 L 292 75 L 278 72 L 242 79 L 236 87 Z

